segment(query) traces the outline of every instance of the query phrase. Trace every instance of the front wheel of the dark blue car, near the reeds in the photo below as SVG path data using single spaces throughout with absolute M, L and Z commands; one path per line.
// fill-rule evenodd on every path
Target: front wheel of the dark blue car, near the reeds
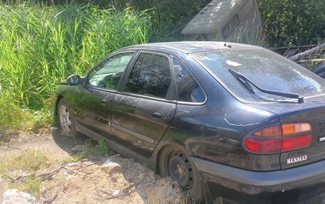
M 60 124 L 61 134 L 68 136 L 77 136 L 76 124 L 66 100 L 61 99 L 58 102 L 58 123 Z

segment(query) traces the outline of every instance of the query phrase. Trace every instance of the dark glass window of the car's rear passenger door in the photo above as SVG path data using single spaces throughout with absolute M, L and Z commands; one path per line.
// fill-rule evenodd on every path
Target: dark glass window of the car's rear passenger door
M 170 63 L 165 55 L 141 53 L 133 66 L 125 92 L 166 98 L 172 77 Z

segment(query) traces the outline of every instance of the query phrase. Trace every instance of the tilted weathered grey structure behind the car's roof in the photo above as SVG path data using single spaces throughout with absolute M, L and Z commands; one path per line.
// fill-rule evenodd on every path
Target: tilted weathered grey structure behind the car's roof
M 262 37 L 262 21 L 256 0 L 214 0 L 182 30 L 204 41 Z

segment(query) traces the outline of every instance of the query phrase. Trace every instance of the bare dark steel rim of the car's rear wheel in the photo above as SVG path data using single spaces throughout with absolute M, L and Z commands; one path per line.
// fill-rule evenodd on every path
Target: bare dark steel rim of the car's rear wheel
M 190 190 L 195 177 L 192 163 L 187 156 L 180 150 L 171 151 L 167 164 L 172 180 L 177 181 L 181 188 Z

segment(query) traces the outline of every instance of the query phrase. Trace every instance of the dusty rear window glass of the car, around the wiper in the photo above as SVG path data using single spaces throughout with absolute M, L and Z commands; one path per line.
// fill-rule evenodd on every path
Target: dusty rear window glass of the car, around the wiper
M 325 80 L 306 68 L 266 49 L 232 49 L 193 53 L 234 97 L 244 102 L 294 101 L 254 88 L 249 92 L 229 70 L 240 73 L 265 90 L 298 94 L 305 99 L 325 94 Z

